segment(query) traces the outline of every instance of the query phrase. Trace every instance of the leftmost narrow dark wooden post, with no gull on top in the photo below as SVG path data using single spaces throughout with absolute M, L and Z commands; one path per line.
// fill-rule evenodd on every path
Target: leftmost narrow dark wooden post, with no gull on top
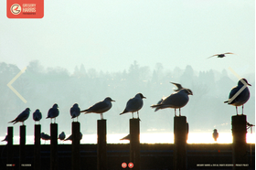
M 14 127 L 7 128 L 7 135 L 8 135 L 8 142 L 7 142 L 7 165 L 14 165 L 14 152 L 13 152 L 13 145 L 14 145 Z M 6 166 L 7 169 L 14 169 L 13 166 Z

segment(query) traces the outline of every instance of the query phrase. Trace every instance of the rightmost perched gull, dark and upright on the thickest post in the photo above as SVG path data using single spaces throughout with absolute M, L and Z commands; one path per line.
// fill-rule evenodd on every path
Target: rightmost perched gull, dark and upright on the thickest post
M 250 90 L 247 86 L 251 86 L 246 79 L 240 79 L 238 85 L 229 92 L 229 101 L 224 101 L 224 103 L 231 104 L 236 106 L 237 115 L 238 106 L 242 106 L 243 114 L 243 105 L 250 99 Z

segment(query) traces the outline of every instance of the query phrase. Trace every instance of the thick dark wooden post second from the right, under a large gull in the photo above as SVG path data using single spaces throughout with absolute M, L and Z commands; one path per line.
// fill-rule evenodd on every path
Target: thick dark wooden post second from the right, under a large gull
M 187 117 L 174 118 L 174 169 L 187 169 Z

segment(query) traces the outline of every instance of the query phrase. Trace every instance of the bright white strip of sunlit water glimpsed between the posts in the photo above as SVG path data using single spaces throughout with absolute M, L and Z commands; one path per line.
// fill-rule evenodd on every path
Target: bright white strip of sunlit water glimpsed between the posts
M 107 143 L 129 143 L 127 140 L 120 140 L 126 133 L 122 134 L 108 134 Z M 5 139 L 5 136 L 0 136 L 0 140 Z M 27 136 L 27 144 L 34 143 L 34 136 Z M 140 136 L 141 143 L 174 143 L 174 134 L 173 133 L 141 133 Z M 247 133 L 247 143 L 255 143 L 256 137 L 255 133 Z M 0 144 L 5 144 L 6 142 L 0 142 Z M 14 137 L 14 144 L 19 143 L 19 136 Z M 41 141 L 42 144 L 45 141 Z M 50 142 L 47 141 L 46 144 Z M 59 144 L 62 142 L 59 141 Z M 70 141 L 65 141 L 64 143 L 71 143 Z M 83 137 L 80 143 L 97 143 L 97 134 L 83 134 Z M 189 133 L 187 143 L 232 143 L 232 134 L 231 133 L 219 133 L 219 138 L 217 142 L 214 141 L 212 133 Z

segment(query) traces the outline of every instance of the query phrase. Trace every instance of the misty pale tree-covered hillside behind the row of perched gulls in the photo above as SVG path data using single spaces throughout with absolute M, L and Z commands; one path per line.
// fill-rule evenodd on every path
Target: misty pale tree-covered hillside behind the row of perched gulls
M 1 133 L 5 135 L 7 123 L 30 108 L 30 116 L 25 122 L 27 135 L 34 133 L 32 113 L 39 109 L 43 114 L 41 120 L 42 132 L 49 133 L 50 120 L 48 109 L 54 103 L 59 105 L 59 133 L 71 133 L 70 107 L 79 103 L 80 109 L 87 109 L 95 102 L 110 96 L 112 109 L 103 113 L 107 119 L 107 133 L 129 133 L 129 119 L 131 113 L 119 115 L 123 112 L 126 102 L 136 93 L 144 94 L 144 107 L 140 110 L 141 133 L 173 133 L 174 109 L 155 112 L 150 106 L 163 96 L 174 92 L 176 87 L 170 81 L 181 83 L 183 87 L 193 91 L 187 105 L 181 109 L 181 114 L 187 116 L 190 133 L 212 133 L 218 129 L 219 133 L 231 133 L 231 116 L 236 114 L 235 107 L 224 104 L 228 100 L 229 90 L 237 85 L 236 78 L 231 71 L 209 69 L 199 71 L 187 65 L 186 68 L 165 69 L 157 63 L 154 69 L 133 61 L 130 67 L 117 72 L 103 72 L 97 69 L 86 69 L 80 65 L 69 72 L 64 68 L 45 68 L 40 62 L 31 61 L 26 71 L 12 84 L 12 86 L 27 100 L 20 100 L 16 93 L 6 84 L 20 71 L 16 65 L 0 63 L 1 83 Z M 254 74 L 243 77 L 251 83 L 251 98 L 245 104 L 244 113 L 248 122 L 255 124 L 255 79 Z M 239 113 L 241 108 L 239 108 Z M 136 114 L 134 114 L 136 115 Z M 80 114 L 80 128 L 83 134 L 97 133 L 96 123 L 100 114 Z M 18 122 L 14 125 L 15 135 L 18 135 Z M 253 131 L 254 132 L 254 131 Z

